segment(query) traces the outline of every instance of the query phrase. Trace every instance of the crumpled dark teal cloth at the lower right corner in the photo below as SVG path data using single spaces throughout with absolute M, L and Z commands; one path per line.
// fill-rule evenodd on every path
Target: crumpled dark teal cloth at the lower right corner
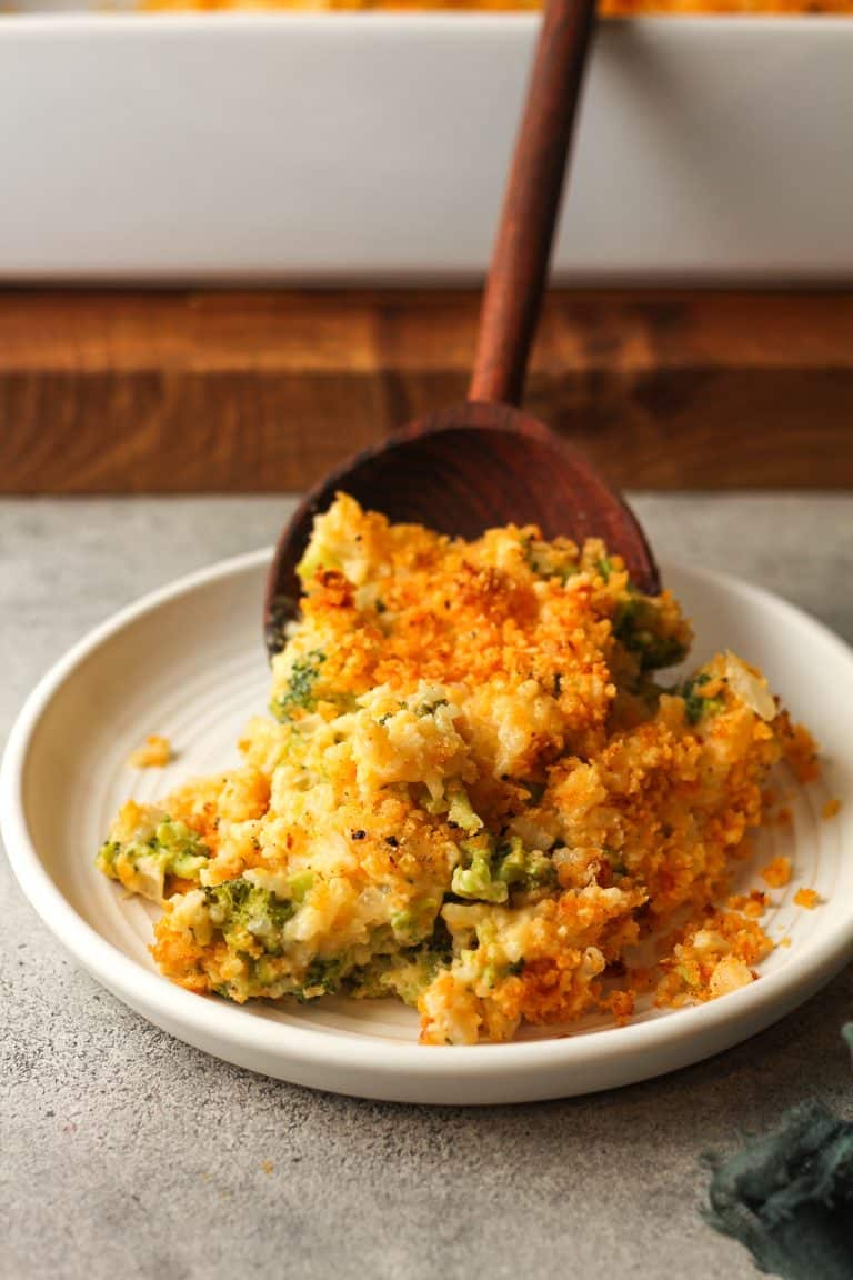
M 844 1028 L 853 1048 L 853 1024 Z M 853 1280 L 853 1124 L 802 1102 L 721 1161 L 703 1217 L 781 1280 Z

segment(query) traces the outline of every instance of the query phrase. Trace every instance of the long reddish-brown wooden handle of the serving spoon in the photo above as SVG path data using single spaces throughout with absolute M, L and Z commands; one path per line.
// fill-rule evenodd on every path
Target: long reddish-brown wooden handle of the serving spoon
M 519 404 L 596 0 L 549 0 L 480 312 L 468 398 Z

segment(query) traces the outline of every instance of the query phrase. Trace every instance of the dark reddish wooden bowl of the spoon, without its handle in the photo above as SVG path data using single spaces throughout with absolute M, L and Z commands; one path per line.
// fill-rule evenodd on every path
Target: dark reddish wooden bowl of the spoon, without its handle
M 634 515 L 561 436 L 505 404 L 442 410 L 326 476 L 297 509 L 275 550 L 265 600 L 272 658 L 298 613 L 302 559 L 313 517 L 336 493 L 389 520 L 477 538 L 497 525 L 538 525 L 545 538 L 602 538 L 637 586 L 660 590 L 657 567 Z

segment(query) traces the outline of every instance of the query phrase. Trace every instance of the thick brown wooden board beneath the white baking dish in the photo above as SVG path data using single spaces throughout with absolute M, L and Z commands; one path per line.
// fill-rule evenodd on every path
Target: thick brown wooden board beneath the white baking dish
M 466 394 L 478 294 L 0 293 L 0 493 L 299 490 Z M 618 485 L 853 485 L 853 294 L 558 291 L 527 407 Z

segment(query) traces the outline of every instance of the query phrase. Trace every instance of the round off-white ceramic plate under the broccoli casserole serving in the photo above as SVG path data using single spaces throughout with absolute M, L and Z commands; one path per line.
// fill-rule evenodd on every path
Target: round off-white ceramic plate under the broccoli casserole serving
M 269 552 L 226 561 L 147 596 L 78 644 L 41 681 L 3 765 L 3 832 L 24 893 L 88 970 L 159 1027 L 240 1066 L 299 1084 L 405 1102 L 518 1102 L 606 1089 L 697 1061 L 752 1036 L 812 995 L 853 954 L 853 654 L 790 604 L 735 579 L 670 567 L 668 584 L 697 632 L 697 660 L 733 648 L 767 673 L 808 722 L 827 759 L 824 781 L 792 791 L 790 828 L 762 833 L 756 865 L 793 856 L 772 893 L 769 929 L 790 938 L 751 987 L 694 1009 L 647 1010 L 628 1027 L 601 1018 L 568 1034 L 512 1044 L 426 1048 L 416 1016 L 391 1001 L 329 998 L 309 1007 L 238 1007 L 161 978 L 147 954 L 156 911 L 95 870 L 111 815 L 191 773 L 237 762 L 247 717 L 263 709 L 260 609 Z M 130 750 L 166 733 L 165 771 L 132 771 Z M 836 818 L 821 809 L 833 795 Z M 743 886 L 755 868 L 744 870 Z M 799 886 L 821 905 L 793 905 Z

